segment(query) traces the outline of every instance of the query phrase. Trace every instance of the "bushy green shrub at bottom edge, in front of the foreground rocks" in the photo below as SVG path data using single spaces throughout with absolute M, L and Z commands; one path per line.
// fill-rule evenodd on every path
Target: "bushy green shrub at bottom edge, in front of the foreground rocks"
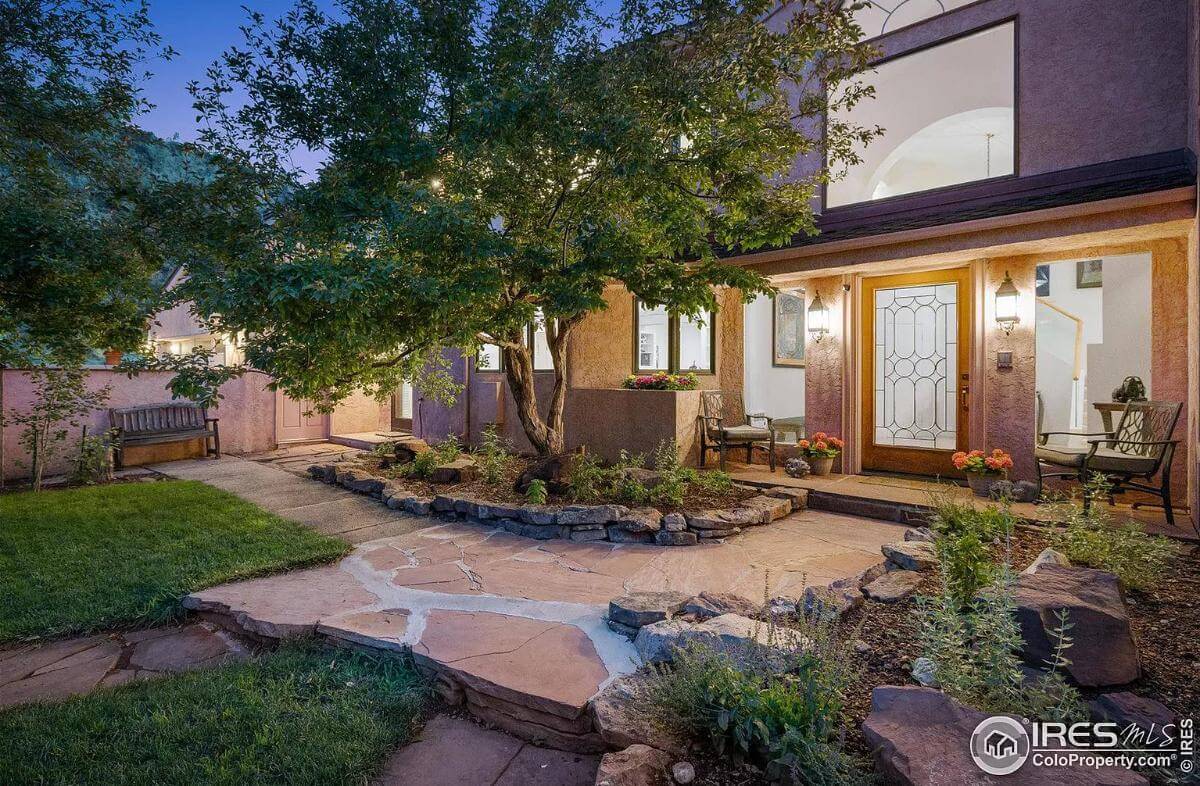
M 784 782 L 866 782 L 840 746 L 845 694 L 857 677 L 846 638 L 832 623 L 769 631 L 788 652 L 715 649 L 692 643 L 656 667 L 640 708 L 652 722 L 708 743 L 720 755 L 751 758 Z M 811 635 L 811 637 L 810 637 Z M 804 642 L 804 646 L 800 646 Z

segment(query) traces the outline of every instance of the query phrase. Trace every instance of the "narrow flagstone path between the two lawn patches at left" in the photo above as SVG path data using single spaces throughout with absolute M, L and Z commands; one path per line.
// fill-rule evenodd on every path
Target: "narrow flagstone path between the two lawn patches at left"
M 210 623 L 0 649 L 0 707 L 61 701 L 96 688 L 218 666 L 250 655 L 245 642 Z

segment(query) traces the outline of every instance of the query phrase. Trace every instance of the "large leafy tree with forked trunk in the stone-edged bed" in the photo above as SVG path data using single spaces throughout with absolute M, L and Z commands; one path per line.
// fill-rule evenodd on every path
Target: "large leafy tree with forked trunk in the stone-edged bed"
M 607 282 L 696 317 L 714 287 L 761 276 L 721 262 L 815 232 L 828 170 L 875 131 L 830 120 L 870 91 L 851 10 L 770 0 L 311 0 L 193 85 L 205 143 L 253 196 L 182 292 L 248 364 L 329 408 L 494 343 L 539 452 L 563 450 L 566 348 Z M 246 96 L 245 101 L 234 96 Z M 830 96 L 827 98 L 827 96 Z M 319 151 L 311 178 L 296 149 Z M 214 230 L 214 235 L 220 233 Z M 526 325 L 545 319 L 545 418 Z M 232 371 L 230 373 L 236 373 Z

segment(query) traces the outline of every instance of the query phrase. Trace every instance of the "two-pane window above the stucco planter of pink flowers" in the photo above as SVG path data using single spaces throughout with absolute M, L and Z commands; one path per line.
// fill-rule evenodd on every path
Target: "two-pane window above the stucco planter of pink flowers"
M 674 317 L 636 302 L 634 371 L 713 373 L 713 314 Z

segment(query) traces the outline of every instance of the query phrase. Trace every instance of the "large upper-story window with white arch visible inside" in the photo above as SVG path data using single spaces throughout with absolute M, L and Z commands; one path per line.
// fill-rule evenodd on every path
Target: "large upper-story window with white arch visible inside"
M 886 60 L 875 97 L 847 115 L 883 136 L 826 188 L 836 208 L 1016 172 L 1016 25 L 1012 22 Z

